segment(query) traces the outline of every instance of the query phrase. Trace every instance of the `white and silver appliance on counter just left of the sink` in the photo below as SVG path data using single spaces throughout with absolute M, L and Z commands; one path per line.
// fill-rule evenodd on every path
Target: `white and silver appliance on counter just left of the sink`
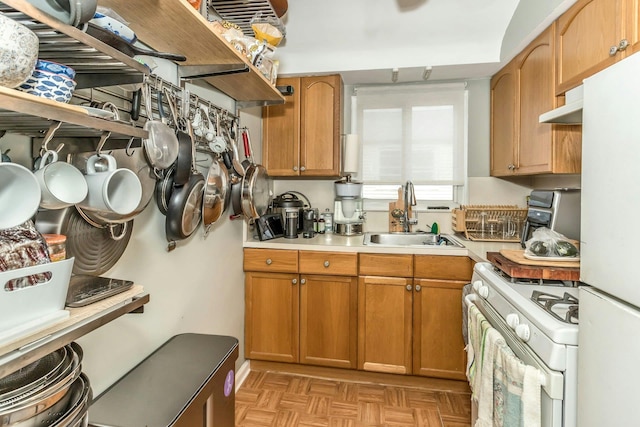
M 362 234 L 364 209 L 362 183 L 351 181 L 351 176 L 334 183 L 336 198 L 334 206 L 334 233 L 342 236 Z

